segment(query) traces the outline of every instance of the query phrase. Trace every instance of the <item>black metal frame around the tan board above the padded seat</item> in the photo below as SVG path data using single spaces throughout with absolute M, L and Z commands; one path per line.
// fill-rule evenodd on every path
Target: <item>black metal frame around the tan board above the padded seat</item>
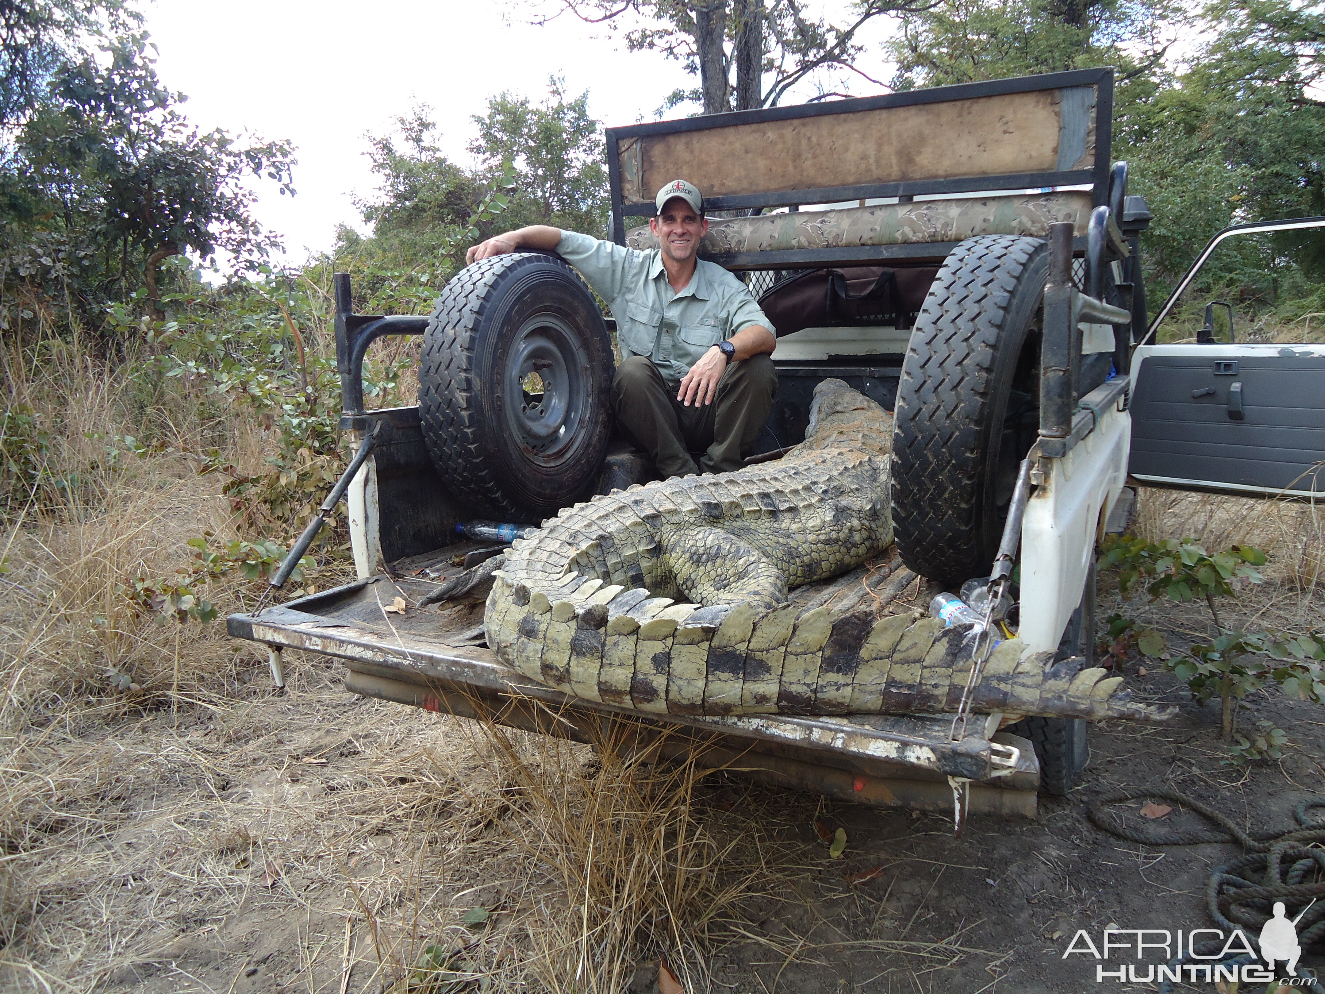
M 880 97 L 829 101 L 824 103 L 802 103 L 788 107 L 768 107 L 766 110 L 738 110 L 727 114 L 682 118 L 678 121 L 659 121 L 648 125 L 610 127 L 607 135 L 607 174 L 612 199 L 612 239 L 625 244 L 625 217 L 649 217 L 652 204 L 621 203 L 621 175 L 619 144 L 624 138 L 681 134 L 704 131 L 734 125 L 751 125 L 770 121 L 792 121 L 796 118 L 823 117 L 828 114 L 851 114 L 861 110 L 881 110 L 885 107 L 908 107 L 925 103 L 946 103 L 951 101 L 974 99 L 978 97 L 998 97 L 1008 93 L 1032 93 L 1036 90 L 1056 90 L 1071 86 L 1096 87 L 1096 139 L 1094 166 L 1089 170 L 1067 170 L 1048 172 L 1016 172 L 998 176 L 958 176 L 953 179 L 906 180 L 897 183 L 864 183 L 851 187 L 820 187 L 814 190 L 782 190 L 758 193 L 705 197 L 705 208 L 712 211 L 734 211 L 761 207 L 791 207 L 800 204 L 822 204 L 835 200 L 860 200 L 867 197 L 918 196 L 926 193 L 973 193 L 996 190 L 1019 190 L 1027 187 L 1092 186 L 1092 205 L 1101 207 L 1109 197 L 1109 152 L 1113 144 L 1113 69 L 1077 69 L 1068 73 L 1045 73 L 1043 76 L 1023 76 L 1012 80 L 959 83 L 955 86 L 934 86 L 908 93 L 889 93 Z M 913 247 L 906 247 L 913 248 Z M 778 254 L 778 253 L 766 253 Z M 787 253 L 783 253 L 787 254 Z M 877 258 L 896 258 L 877 256 Z M 714 261 L 719 261 L 714 258 Z M 829 261 L 829 260 L 824 260 Z M 836 260 L 832 260 L 836 261 Z M 852 260 L 855 261 L 855 260 Z M 722 261 L 722 265 L 729 262 Z M 734 262 L 733 262 L 734 264 Z M 795 265 L 786 260 L 778 264 Z

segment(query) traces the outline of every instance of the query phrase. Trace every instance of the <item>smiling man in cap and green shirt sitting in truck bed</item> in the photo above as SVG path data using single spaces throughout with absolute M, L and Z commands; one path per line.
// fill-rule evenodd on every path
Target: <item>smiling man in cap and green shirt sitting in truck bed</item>
M 754 448 L 778 390 L 774 333 L 745 285 L 698 258 L 709 231 L 704 197 L 684 179 L 655 199 L 659 249 L 639 252 L 535 224 L 474 245 L 466 261 L 553 249 L 616 317 L 623 362 L 612 411 L 664 477 L 723 473 Z M 704 452 L 698 465 L 690 452 Z

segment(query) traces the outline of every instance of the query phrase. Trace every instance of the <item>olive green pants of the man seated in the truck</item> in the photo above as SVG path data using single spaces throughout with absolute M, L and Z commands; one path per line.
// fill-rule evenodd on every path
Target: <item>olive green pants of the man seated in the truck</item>
M 778 371 L 770 355 L 751 355 L 727 366 L 710 404 L 685 407 L 676 391 L 647 358 L 623 362 L 612 378 L 612 412 L 621 431 L 649 453 L 659 476 L 726 473 L 741 468 L 768 420 Z M 704 452 L 698 465 L 692 452 Z

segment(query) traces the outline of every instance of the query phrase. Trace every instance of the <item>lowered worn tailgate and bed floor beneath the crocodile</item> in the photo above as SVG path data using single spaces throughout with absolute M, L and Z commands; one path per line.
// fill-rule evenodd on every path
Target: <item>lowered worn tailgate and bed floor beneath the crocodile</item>
M 975 716 L 959 742 L 943 716 L 641 714 L 567 696 L 504 665 L 482 636 L 482 604 L 417 608 L 482 543 L 462 542 L 399 561 L 383 574 L 299 598 L 258 615 L 236 614 L 229 634 L 335 656 L 346 688 L 366 697 L 494 721 L 582 742 L 611 737 L 659 759 L 698 755 L 712 767 L 877 807 L 953 808 L 949 778 L 970 781 L 969 811 L 1034 816 L 1039 767 L 1026 740 L 990 736 Z M 863 570 L 795 591 L 822 600 L 859 583 Z M 404 600 L 404 612 L 388 611 Z M 912 610 L 906 603 L 894 610 Z

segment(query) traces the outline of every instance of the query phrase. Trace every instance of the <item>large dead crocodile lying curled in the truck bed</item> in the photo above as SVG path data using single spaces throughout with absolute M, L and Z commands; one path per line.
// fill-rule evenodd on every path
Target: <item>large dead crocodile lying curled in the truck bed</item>
M 825 379 L 806 440 L 780 460 L 563 509 L 492 562 L 489 647 L 526 677 L 641 712 L 957 710 L 970 630 L 787 599 L 892 543 L 892 428 L 882 407 Z M 1053 656 L 1000 643 L 971 710 L 1162 717 L 1121 677 Z

